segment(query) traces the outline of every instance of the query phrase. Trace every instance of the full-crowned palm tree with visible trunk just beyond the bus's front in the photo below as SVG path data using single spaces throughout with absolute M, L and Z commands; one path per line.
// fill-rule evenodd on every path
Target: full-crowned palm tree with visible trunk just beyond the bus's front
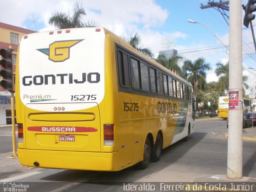
M 206 84 L 206 70 L 210 70 L 210 63 L 206 63 L 204 58 L 198 58 L 194 62 L 184 61 L 184 68 L 188 72 L 188 81 L 193 85 L 194 94 L 197 96 L 198 87 Z

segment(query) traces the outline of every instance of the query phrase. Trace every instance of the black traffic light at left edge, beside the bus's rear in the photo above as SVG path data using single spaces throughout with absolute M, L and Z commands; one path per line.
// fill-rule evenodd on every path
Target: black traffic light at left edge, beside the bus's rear
M 6 90 L 13 91 L 12 49 L 0 49 L 0 55 L 2 56 L 2 60 L 0 60 L 0 65 L 2 66 L 0 76 L 3 78 L 0 81 L 0 86 Z

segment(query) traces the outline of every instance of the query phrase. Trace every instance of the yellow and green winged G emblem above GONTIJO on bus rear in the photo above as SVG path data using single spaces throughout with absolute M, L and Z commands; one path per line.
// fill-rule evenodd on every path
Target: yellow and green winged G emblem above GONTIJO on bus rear
M 49 45 L 49 48 L 42 48 L 37 49 L 38 51 L 42 52 L 49 56 L 49 60 L 53 62 L 63 62 L 69 59 L 70 55 L 70 48 L 83 39 L 79 40 L 67 40 L 67 41 L 55 41 Z

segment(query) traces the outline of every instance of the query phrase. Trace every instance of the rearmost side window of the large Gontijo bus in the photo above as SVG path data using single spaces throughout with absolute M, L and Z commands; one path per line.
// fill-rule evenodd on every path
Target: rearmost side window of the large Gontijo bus
M 130 86 L 128 55 L 120 50 L 118 51 L 118 73 L 120 85 L 128 88 Z

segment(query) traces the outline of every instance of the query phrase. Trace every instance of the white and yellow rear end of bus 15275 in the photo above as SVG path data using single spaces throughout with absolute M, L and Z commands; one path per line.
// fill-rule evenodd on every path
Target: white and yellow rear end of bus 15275
M 22 37 L 16 70 L 20 164 L 118 170 L 114 38 L 104 28 Z M 115 69 L 116 70 L 116 69 Z M 113 107 L 107 107 L 113 106 Z

